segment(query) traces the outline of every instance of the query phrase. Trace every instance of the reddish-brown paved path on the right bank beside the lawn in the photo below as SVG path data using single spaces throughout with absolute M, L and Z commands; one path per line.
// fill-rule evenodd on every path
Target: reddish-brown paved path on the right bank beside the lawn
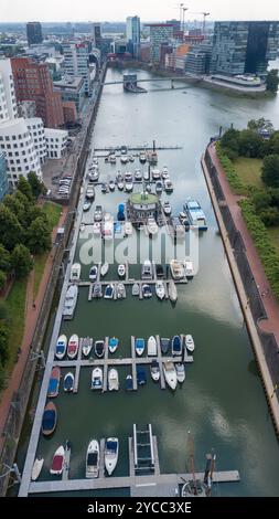
M 251 267 L 253 275 L 255 277 L 255 282 L 258 286 L 259 293 L 261 294 L 262 304 L 265 306 L 266 314 L 268 317 L 267 319 L 260 320 L 258 322 L 258 328 L 260 328 L 260 330 L 262 331 L 273 333 L 277 342 L 279 343 L 279 303 L 271 292 L 271 287 L 269 285 L 269 282 L 267 280 L 262 264 L 259 260 L 254 242 L 243 219 L 242 210 L 237 203 L 240 197 L 234 194 L 230 191 L 226 174 L 216 155 L 214 144 L 208 147 L 208 151 L 214 166 L 218 170 L 219 183 L 225 194 L 226 202 L 234 219 L 235 225 L 242 234 L 246 247 L 247 258 Z

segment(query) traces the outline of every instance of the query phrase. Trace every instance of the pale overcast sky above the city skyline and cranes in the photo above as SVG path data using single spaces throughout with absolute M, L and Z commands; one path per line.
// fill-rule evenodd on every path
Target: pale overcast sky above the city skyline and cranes
M 0 0 L 1 22 L 22 21 L 120 21 L 138 14 L 143 21 L 179 18 L 181 0 Z M 278 20 L 278 0 L 189 0 L 192 12 L 207 11 L 212 20 Z

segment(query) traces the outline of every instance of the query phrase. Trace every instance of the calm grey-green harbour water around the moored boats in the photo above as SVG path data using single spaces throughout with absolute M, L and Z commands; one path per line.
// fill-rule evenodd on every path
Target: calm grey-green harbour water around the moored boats
M 138 75 L 149 76 L 142 71 Z M 107 80 L 119 76 L 119 72 L 108 71 Z M 162 83 L 161 87 L 165 85 Z M 158 83 L 151 82 L 148 88 L 158 88 Z M 179 151 L 159 152 L 159 167 L 167 163 L 174 181 L 174 192 L 168 199 L 174 212 L 179 212 L 186 197 L 196 197 L 206 213 L 208 231 L 200 239 L 198 274 L 186 286 L 179 287 L 175 307 L 155 297 L 139 300 L 130 295 L 125 301 L 88 303 L 87 288 L 83 288 L 75 318 L 64 322 L 62 331 L 67 337 L 76 332 L 94 339 L 116 336 L 120 340 L 118 354 L 122 357 L 129 352 L 131 335 L 148 338 L 155 333 L 171 337 L 189 332 L 194 336 L 196 350 L 194 363 L 186 367 L 186 380 L 175 394 L 161 391 L 150 379 L 136 394 L 125 393 L 124 380 L 128 374 L 125 367 L 119 369 L 117 394 L 96 394 L 89 389 L 90 369 L 83 369 L 78 394 L 61 392 L 55 400 L 58 423 L 54 436 L 40 438 L 37 452 L 43 454 L 46 467 L 42 479 L 50 477 L 53 453 L 66 438 L 73 444 L 71 477 L 84 477 L 89 439 L 109 435 L 120 439 L 115 475 L 128 474 L 127 438 L 132 424 L 151 423 L 158 436 L 162 473 L 185 470 L 186 433 L 191 430 L 197 470 L 205 467 L 205 454 L 214 449 L 217 469 L 240 473 L 239 484 L 219 485 L 215 488 L 217 495 L 279 495 L 278 443 L 200 165 L 206 142 L 219 126 L 229 127 L 233 123 L 245 127 L 249 119 L 265 116 L 278 127 L 278 105 L 276 98 L 229 97 L 191 86 L 142 95 L 124 93 L 121 85 L 105 87 L 94 145 L 143 145 L 154 138 L 161 145 L 183 146 Z M 138 161 L 129 169 L 136 167 Z M 101 161 L 105 180 L 118 169 L 119 162 L 104 166 Z M 98 191 L 96 202 L 116 215 L 118 203 L 124 200 L 124 193 Z M 81 236 L 76 260 L 83 243 Z M 83 266 L 84 278 L 88 269 L 89 266 Z M 136 275 L 139 267 L 133 269 Z

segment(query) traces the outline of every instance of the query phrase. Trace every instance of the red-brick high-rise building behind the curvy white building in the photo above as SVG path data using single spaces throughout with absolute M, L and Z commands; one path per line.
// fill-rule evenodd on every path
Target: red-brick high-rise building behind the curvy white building
M 41 117 L 45 126 L 57 128 L 63 125 L 61 94 L 54 92 L 47 65 L 28 57 L 12 57 L 11 64 L 18 102 L 34 100 L 36 117 Z

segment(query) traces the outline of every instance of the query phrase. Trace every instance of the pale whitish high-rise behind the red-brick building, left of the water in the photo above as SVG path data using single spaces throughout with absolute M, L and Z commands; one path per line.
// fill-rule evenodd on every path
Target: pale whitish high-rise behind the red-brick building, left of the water
M 89 50 L 86 43 L 63 43 L 65 73 L 72 77 L 84 78 L 85 93 L 92 95 L 92 82 L 89 72 Z

